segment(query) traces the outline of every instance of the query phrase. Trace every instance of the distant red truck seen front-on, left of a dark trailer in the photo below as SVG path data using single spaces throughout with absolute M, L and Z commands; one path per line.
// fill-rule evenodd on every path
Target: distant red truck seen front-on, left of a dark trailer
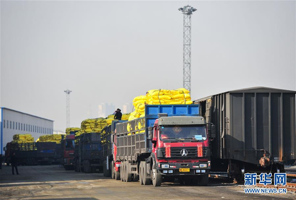
M 66 135 L 62 139 L 63 165 L 66 170 L 74 170 L 75 134 Z

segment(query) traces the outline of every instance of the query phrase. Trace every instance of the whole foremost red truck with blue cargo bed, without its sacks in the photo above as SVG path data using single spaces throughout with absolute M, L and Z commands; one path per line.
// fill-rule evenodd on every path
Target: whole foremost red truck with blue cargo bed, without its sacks
M 144 118 L 116 124 L 111 142 L 116 180 L 208 184 L 211 150 L 198 105 L 146 105 Z

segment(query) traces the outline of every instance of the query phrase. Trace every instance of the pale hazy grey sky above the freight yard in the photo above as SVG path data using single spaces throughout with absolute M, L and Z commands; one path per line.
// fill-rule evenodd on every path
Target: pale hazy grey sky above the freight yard
M 66 127 L 149 89 L 183 84 L 187 1 L 0 1 L 0 106 Z M 189 1 L 193 99 L 296 90 L 295 1 Z M 90 109 L 91 114 L 90 116 Z

